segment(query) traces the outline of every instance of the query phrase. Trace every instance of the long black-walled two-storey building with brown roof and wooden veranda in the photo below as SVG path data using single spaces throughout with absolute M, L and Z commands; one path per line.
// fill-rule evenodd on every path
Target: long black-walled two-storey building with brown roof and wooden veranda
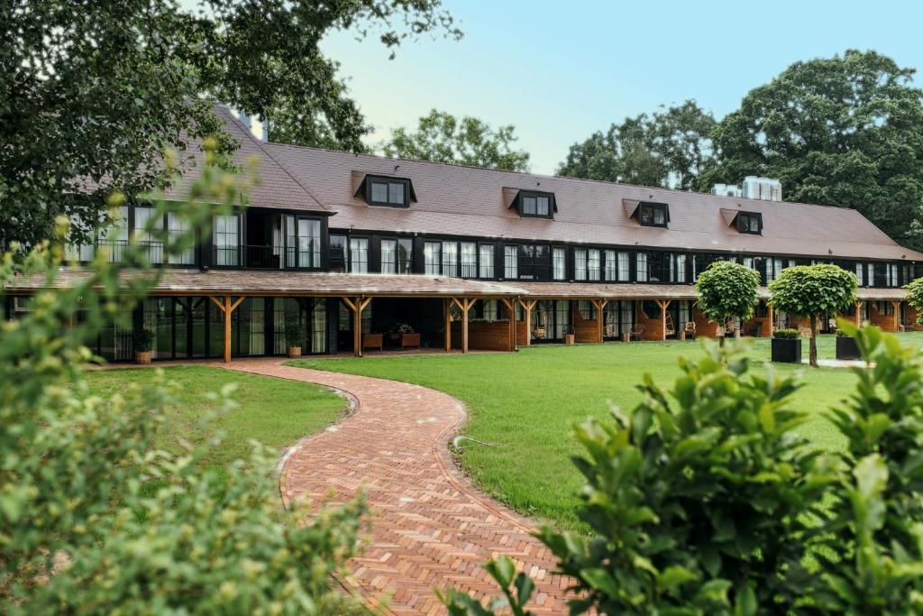
M 217 217 L 197 248 L 164 264 L 134 312 L 157 358 L 282 355 L 293 318 L 306 330 L 297 342 L 316 354 L 714 335 L 693 284 L 715 260 L 753 268 L 764 285 L 791 265 L 835 263 L 859 279 L 846 316 L 892 331 L 916 318 L 901 287 L 923 275 L 923 254 L 854 210 L 266 143 L 216 113 L 242 143 L 238 159 L 258 156 L 260 183 L 246 210 Z M 126 208 L 96 246 L 118 259 L 151 211 Z M 148 249 L 163 261 L 161 246 Z M 32 290 L 12 289 L 7 317 L 22 306 L 15 294 Z M 798 323 L 762 301 L 738 325 L 768 335 Z M 130 340 L 114 324 L 97 350 L 128 359 Z

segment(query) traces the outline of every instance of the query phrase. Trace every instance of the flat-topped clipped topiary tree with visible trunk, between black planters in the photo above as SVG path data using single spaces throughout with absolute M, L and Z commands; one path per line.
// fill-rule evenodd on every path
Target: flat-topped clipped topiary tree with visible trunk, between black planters
M 773 308 L 810 319 L 811 366 L 817 366 L 818 317 L 851 307 L 856 301 L 857 287 L 855 273 L 827 264 L 787 268 L 769 284 L 769 302 Z

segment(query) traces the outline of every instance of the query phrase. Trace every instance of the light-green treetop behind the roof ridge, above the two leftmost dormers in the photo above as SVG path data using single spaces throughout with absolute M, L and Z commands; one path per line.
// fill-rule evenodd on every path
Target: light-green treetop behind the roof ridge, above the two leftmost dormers
M 511 124 L 494 130 L 476 117 L 460 119 L 433 109 L 420 118 L 415 132 L 396 128 L 384 152 L 394 158 L 528 171 L 529 152 L 513 150 L 515 130 Z

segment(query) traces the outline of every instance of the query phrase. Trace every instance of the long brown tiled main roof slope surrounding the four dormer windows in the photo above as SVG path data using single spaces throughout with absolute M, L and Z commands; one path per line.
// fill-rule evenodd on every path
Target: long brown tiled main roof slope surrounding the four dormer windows
M 444 163 L 262 144 L 299 183 L 337 214 L 334 228 L 402 231 L 522 240 L 583 242 L 650 248 L 923 260 L 902 248 L 859 212 L 787 201 L 762 201 L 580 180 L 517 174 Z M 407 210 L 376 208 L 354 198 L 354 177 L 395 173 L 414 182 L 418 202 Z M 555 193 L 554 220 L 523 219 L 509 209 L 510 187 Z M 668 229 L 642 227 L 626 211 L 636 201 L 667 203 Z M 762 213 L 762 235 L 728 228 L 722 209 Z

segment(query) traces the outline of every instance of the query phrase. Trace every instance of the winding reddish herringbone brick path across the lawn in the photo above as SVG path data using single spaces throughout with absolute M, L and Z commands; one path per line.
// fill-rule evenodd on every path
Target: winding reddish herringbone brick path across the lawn
M 392 380 L 290 368 L 281 359 L 234 359 L 224 368 L 326 385 L 358 402 L 353 415 L 294 447 L 281 486 L 286 504 L 328 501 L 331 489 L 335 501 L 366 493 L 370 542 L 346 584 L 369 605 L 444 613 L 433 588 L 449 586 L 496 597 L 481 565 L 506 554 L 533 576 L 536 613 L 567 612 L 567 580 L 552 573 L 554 557 L 530 535 L 533 525 L 456 470 L 448 442 L 465 417 L 459 401 Z

